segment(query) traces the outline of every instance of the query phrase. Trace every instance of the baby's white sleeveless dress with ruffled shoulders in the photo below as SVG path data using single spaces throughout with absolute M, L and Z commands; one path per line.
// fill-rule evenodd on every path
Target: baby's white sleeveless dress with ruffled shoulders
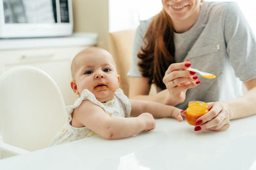
M 67 123 L 63 126 L 61 131 L 56 134 L 49 146 L 60 145 L 62 143 L 88 138 L 96 134 L 88 129 L 88 127 L 73 127 L 70 124 L 72 120 L 71 114 L 74 108 L 80 106 L 84 100 L 90 100 L 92 103 L 97 104 L 100 106 L 100 108 L 106 111 L 106 114 L 108 114 L 110 117 L 129 117 L 131 115 L 131 102 L 129 101 L 128 97 L 125 96 L 122 89 L 117 89 L 114 98 L 106 103 L 100 103 L 97 101 L 92 92 L 84 89 L 81 97 L 79 97 L 79 99 L 77 99 L 73 105 L 67 106 Z

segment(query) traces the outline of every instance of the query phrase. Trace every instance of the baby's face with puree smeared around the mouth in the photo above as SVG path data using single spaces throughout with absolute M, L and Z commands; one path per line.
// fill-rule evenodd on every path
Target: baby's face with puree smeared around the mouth
M 100 102 L 113 99 L 120 81 L 112 56 L 105 51 L 78 57 L 74 79 L 76 94 L 80 96 L 84 89 L 88 89 Z

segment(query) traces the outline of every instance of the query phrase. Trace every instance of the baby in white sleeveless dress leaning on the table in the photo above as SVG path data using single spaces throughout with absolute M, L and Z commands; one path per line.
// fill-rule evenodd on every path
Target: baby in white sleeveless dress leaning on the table
M 113 57 L 106 50 L 92 47 L 79 52 L 72 61 L 71 73 L 71 87 L 79 99 L 67 107 L 67 124 L 51 145 L 95 134 L 106 139 L 128 138 L 154 129 L 154 117 L 174 117 L 182 121 L 180 110 L 173 106 L 129 100 L 119 89 L 120 76 Z

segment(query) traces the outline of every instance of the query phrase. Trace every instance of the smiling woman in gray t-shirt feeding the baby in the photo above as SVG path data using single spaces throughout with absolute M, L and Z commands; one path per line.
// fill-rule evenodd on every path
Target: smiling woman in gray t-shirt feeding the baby
M 209 103 L 195 131 L 225 131 L 230 119 L 256 113 L 256 40 L 234 2 L 162 0 L 163 10 L 136 31 L 129 97 L 186 109 Z M 216 75 L 195 76 L 188 67 Z M 243 95 L 242 81 L 248 92 Z M 148 96 L 150 85 L 157 94 Z M 183 111 L 186 113 L 186 111 Z

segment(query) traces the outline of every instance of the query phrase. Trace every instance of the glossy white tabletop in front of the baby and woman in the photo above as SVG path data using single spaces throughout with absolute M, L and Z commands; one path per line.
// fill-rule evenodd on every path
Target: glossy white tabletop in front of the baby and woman
M 163 118 L 127 139 L 94 136 L 0 160 L 0 169 L 256 169 L 256 116 L 232 120 L 225 132 L 193 131 Z

